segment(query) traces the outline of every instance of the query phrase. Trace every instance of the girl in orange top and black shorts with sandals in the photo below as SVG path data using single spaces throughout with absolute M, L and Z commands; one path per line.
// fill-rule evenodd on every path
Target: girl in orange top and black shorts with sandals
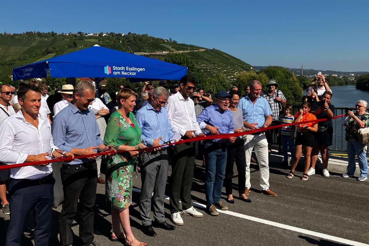
M 304 102 L 301 105 L 300 112 L 297 112 L 295 115 L 294 122 L 301 122 L 301 124 L 297 125 L 296 139 L 295 139 L 295 153 L 293 157 L 293 161 L 291 164 L 291 171 L 286 176 L 286 178 L 291 179 L 294 174 L 294 170 L 297 166 L 297 163 L 300 160 L 302 148 L 304 147 L 304 174 L 301 177 L 301 180 L 307 180 L 309 176 L 307 175 L 307 170 L 310 167 L 310 154 L 311 149 L 314 146 L 314 134 L 313 132 L 318 131 L 317 123 L 307 123 L 303 124 L 304 121 L 311 121 L 317 119 L 315 115 L 310 114 L 311 104 L 309 102 Z

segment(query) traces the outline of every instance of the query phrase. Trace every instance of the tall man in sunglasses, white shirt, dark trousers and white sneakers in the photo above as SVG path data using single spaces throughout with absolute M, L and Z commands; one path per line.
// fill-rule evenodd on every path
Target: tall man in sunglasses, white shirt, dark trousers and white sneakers
M 168 98 L 165 109 L 175 133 L 182 139 L 204 135 L 196 121 L 195 108 L 190 95 L 195 88 L 196 80 L 189 75 L 180 80 L 180 90 Z M 170 212 L 175 225 L 183 225 L 179 212 L 179 198 L 182 201 L 183 215 L 200 218 L 204 216 L 191 205 L 191 189 L 195 161 L 194 142 L 176 145 L 173 149 L 172 174 L 170 176 Z

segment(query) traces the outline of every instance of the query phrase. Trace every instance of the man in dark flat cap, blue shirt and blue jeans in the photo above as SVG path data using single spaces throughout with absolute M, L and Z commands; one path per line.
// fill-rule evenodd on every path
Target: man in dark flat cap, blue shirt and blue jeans
M 220 90 L 215 95 L 214 105 L 205 108 L 196 120 L 205 135 L 219 135 L 234 133 L 232 113 L 228 109 L 231 95 L 225 90 Z M 205 194 L 206 210 L 210 215 L 217 216 L 215 209 L 228 210 L 228 207 L 220 201 L 223 187 L 223 177 L 227 164 L 227 143 L 234 143 L 235 138 L 208 139 L 204 144 L 205 156 Z

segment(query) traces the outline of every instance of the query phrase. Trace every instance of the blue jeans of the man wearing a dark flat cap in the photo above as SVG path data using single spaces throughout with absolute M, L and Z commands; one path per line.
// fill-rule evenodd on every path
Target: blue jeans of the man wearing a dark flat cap
M 227 148 L 225 143 L 209 143 L 204 145 L 205 156 L 205 196 L 206 205 L 220 202 L 223 177 L 227 164 Z

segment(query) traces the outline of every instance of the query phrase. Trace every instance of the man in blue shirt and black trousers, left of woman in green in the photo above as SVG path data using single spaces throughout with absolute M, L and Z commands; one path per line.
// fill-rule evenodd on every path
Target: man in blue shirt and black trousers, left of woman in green
M 81 156 L 111 148 L 101 140 L 95 113 L 89 109 L 95 95 L 96 87 L 86 80 L 74 87 L 73 100 L 55 116 L 52 123 L 52 136 L 59 149 Z M 112 151 L 115 152 L 114 149 Z M 78 200 L 80 244 L 95 246 L 93 206 L 97 187 L 96 157 L 75 159 L 69 164 L 63 163 L 60 169 L 64 192 L 59 217 L 60 246 L 73 243 L 72 224 Z

